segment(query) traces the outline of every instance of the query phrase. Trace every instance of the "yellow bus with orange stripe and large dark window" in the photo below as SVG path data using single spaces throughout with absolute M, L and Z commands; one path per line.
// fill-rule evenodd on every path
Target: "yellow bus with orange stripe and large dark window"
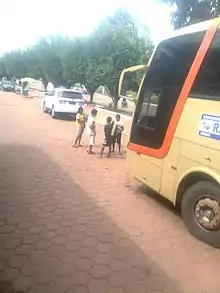
M 174 31 L 145 70 L 130 131 L 129 172 L 174 205 L 196 238 L 220 247 L 220 18 Z

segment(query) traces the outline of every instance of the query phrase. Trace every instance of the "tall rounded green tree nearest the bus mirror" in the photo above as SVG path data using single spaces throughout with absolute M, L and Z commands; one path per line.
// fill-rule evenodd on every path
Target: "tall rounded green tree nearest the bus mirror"
M 99 62 L 103 70 L 100 84 L 108 88 L 114 108 L 117 109 L 121 71 L 143 62 L 147 64 L 153 44 L 148 36 L 140 36 L 130 14 L 122 10 L 103 21 L 93 38 L 99 44 Z

